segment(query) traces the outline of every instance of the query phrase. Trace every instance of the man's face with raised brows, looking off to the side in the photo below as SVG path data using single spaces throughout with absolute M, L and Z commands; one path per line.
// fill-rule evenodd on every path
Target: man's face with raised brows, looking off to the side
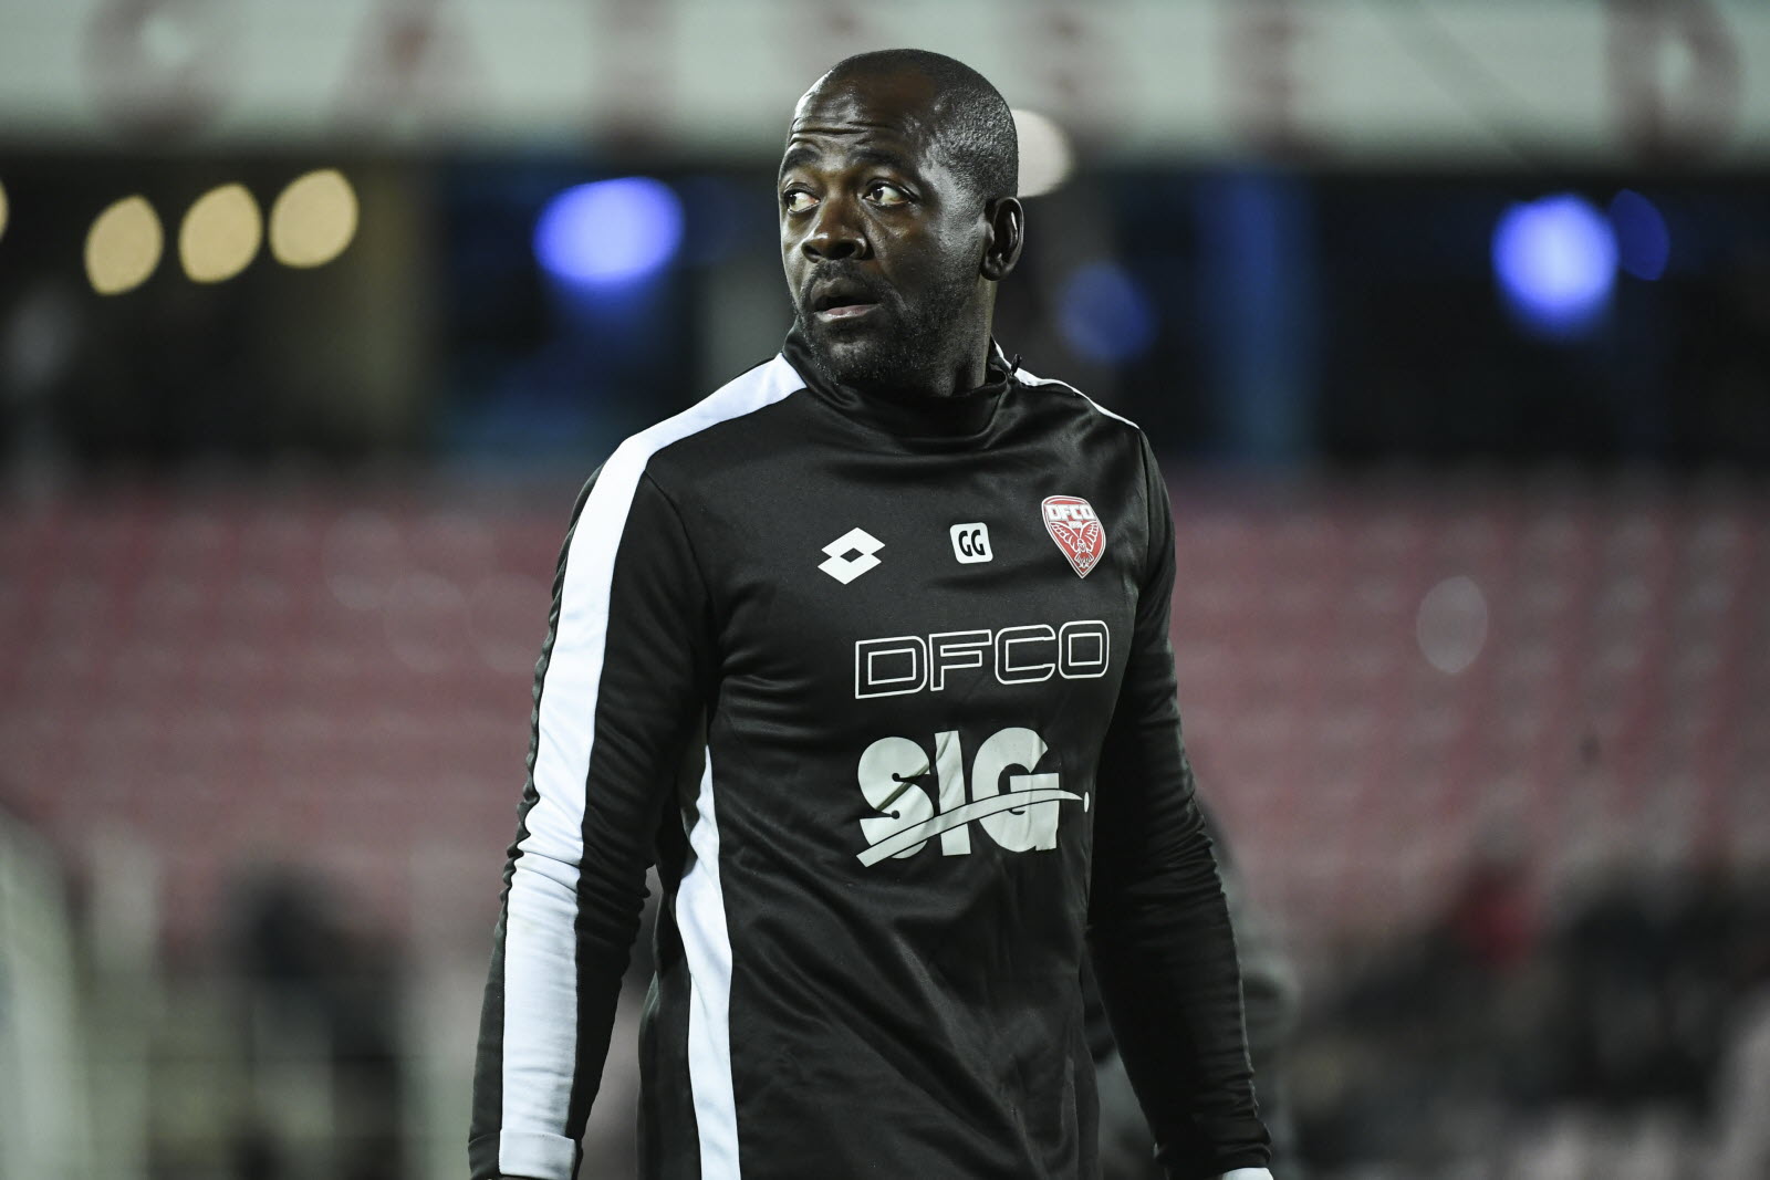
M 781 159 L 781 262 L 825 373 L 938 384 L 981 356 L 984 202 L 947 165 L 933 83 L 915 73 L 814 87 Z

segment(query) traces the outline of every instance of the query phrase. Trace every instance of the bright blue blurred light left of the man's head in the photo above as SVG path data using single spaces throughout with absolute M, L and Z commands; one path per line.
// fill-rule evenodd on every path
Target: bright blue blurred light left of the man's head
M 621 177 L 570 188 L 535 223 L 535 258 L 577 287 L 650 278 L 681 246 L 681 202 L 662 180 Z

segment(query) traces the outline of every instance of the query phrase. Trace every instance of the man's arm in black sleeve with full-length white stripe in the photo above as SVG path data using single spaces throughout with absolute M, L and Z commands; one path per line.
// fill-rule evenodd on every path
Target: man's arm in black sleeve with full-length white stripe
M 474 1180 L 577 1173 L 653 837 L 708 683 L 706 587 L 623 446 L 579 497 L 535 676 L 480 1049 Z

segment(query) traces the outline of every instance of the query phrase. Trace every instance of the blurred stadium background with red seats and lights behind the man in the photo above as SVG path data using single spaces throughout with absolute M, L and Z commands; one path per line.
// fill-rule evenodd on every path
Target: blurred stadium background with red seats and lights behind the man
M 1292 1175 L 1770 1176 L 1770 7 L 0 0 L 0 1178 L 462 1175 L 572 497 L 890 44 L 1174 479 Z

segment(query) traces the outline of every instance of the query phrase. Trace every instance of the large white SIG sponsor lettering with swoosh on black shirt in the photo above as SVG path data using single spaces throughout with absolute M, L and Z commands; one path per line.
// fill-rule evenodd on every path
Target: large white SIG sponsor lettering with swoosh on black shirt
M 915 856 L 940 837 L 942 856 L 972 851 L 970 824 L 984 830 L 997 846 L 1011 853 L 1057 847 L 1060 803 L 1081 803 L 1089 796 L 1062 789 L 1058 770 L 1037 771 L 1050 748 L 1044 738 L 1023 727 L 989 734 L 972 761 L 970 798 L 965 784 L 965 748 L 958 731 L 935 734 L 935 757 L 912 738 L 880 738 L 860 755 L 855 775 L 860 793 L 880 812 L 860 821 L 867 847 L 858 853 L 862 865 L 887 858 Z M 936 794 L 917 787 L 933 773 Z

